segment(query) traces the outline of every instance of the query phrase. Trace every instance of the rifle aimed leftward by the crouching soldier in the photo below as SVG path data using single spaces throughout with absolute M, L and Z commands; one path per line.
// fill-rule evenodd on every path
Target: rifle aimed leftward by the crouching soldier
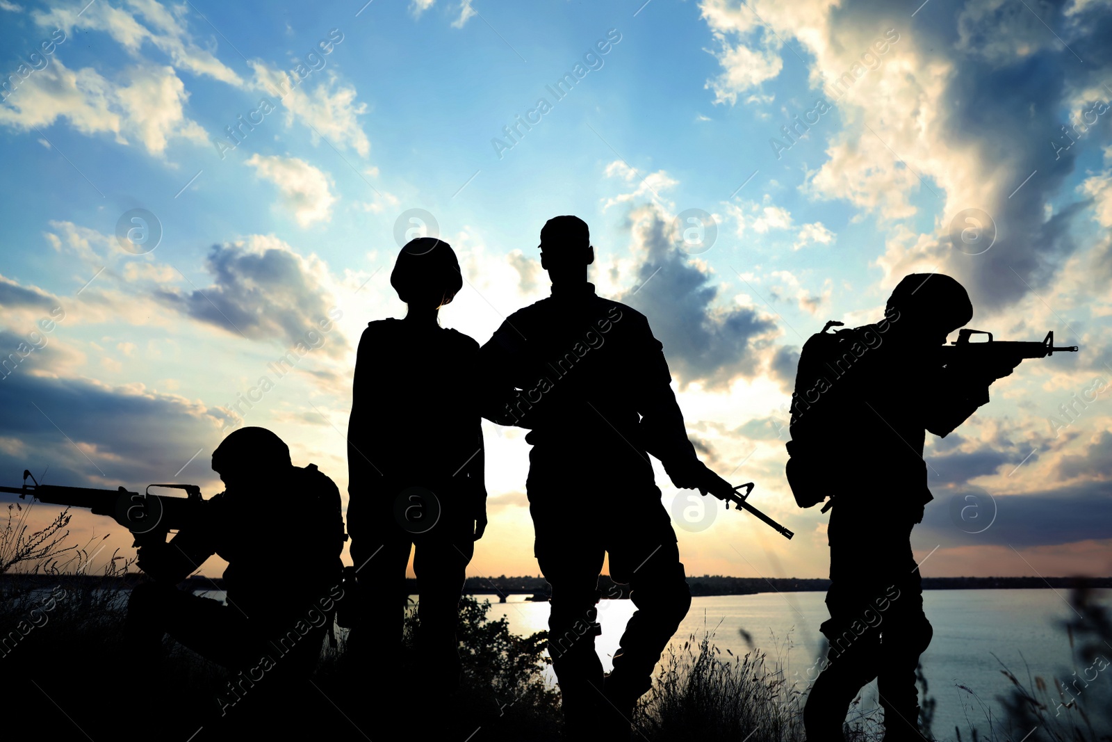
M 34 484 L 27 484 L 28 477 Z M 151 487 L 185 489 L 185 497 L 152 495 Z M 34 476 L 23 471 L 22 487 L 0 487 L 0 492 L 17 494 L 21 499 L 31 495 L 39 502 L 67 507 L 86 507 L 95 515 L 108 515 L 131 532 L 132 546 L 166 543 L 170 531 L 178 531 L 197 523 L 203 514 L 206 499 L 196 484 L 149 484 L 146 492 L 119 489 L 93 489 L 90 487 L 62 487 L 39 484 Z

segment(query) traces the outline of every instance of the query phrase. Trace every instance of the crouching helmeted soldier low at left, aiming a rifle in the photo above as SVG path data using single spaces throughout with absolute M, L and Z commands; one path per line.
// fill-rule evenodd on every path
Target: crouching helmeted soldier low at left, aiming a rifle
M 280 699 L 316 669 L 342 597 L 344 520 L 332 481 L 314 464 L 294 466 L 266 428 L 229 433 L 212 469 L 226 488 L 206 501 L 203 518 L 139 547 L 137 563 L 155 581 L 132 588 L 125 641 L 143 682 L 159 673 L 166 634 L 239 672 L 217 698 L 227 714 L 241 698 Z M 228 562 L 227 604 L 176 587 L 214 554 Z

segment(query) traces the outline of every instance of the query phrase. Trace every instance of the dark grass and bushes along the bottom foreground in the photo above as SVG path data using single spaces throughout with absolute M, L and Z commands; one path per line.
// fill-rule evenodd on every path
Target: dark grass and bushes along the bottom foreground
M 0 580 L 0 670 L 8 681 L 9 718 L 20 718 L 27 709 L 43 734 L 202 742 L 266 739 L 258 734 L 265 723 L 291 739 L 304 732 L 318 739 L 363 740 L 383 711 L 386 685 L 420 687 L 421 667 L 411 642 L 417 619 L 410 613 L 401 667 L 351 666 L 340 632 L 336 647 L 322 647 L 311 682 L 281 699 L 245 693 L 241 703 L 221 713 L 218 699 L 224 693 L 227 700 L 227 685 L 236 679 L 175 642 L 165 643 L 158 677 L 137 677 L 121 661 L 127 597 L 121 587 L 142 578 L 130 561 L 112 555 L 100 573 L 87 574 L 98 543 L 69 545 L 64 513 L 33 533 L 26 528 L 19 506 L 8 515 L 8 526 L 0 531 L 0 572 L 8 573 Z M 522 578 L 498 578 L 505 580 Z M 502 588 L 507 586 L 503 583 Z M 1063 650 L 1069 646 L 1074 662 L 1072 674 L 1044 677 L 1002 667 L 1002 693 L 992 701 L 959 686 L 969 702 L 967 725 L 934 730 L 936 739 L 1112 740 L 1112 616 L 1082 586 L 1074 590 L 1071 603 L 1073 619 L 1061 629 Z M 515 636 L 505 619 L 488 620 L 486 609 L 487 601 L 470 596 L 460 603 L 460 690 L 447 700 L 404 690 L 394 711 L 405 721 L 393 739 L 559 739 L 559 693 L 550 685 L 544 632 Z M 785 644 L 781 653 L 787 649 Z M 932 702 L 922 676 L 921 687 L 927 700 L 922 721 L 929 726 Z M 638 704 L 635 739 L 798 742 L 804 739 L 806 690 L 805 683 L 785 676 L 780 656 L 757 650 L 743 656 L 723 652 L 715 646 L 713 631 L 676 637 L 661 661 L 653 690 Z M 855 704 L 847 720 L 848 739 L 878 740 L 877 713 Z

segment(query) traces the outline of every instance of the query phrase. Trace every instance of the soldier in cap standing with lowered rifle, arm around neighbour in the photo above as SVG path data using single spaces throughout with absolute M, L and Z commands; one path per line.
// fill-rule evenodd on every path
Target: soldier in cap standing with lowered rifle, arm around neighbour
M 691 605 L 648 455 L 677 487 L 729 485 L 696 457 L 644 315 L 587 283 L 595 259 L 587 225 L 549 219 L 539 247 L 552 296 L 515 311 L 483 346 L 485 415 L 532 428 L 526 488 L 534 554 L 552 585 L 548 651 L 565 733 L 628 738 L 634 704 Z M 637 611 L 604 682 L 595 636 L 606 554 Z

